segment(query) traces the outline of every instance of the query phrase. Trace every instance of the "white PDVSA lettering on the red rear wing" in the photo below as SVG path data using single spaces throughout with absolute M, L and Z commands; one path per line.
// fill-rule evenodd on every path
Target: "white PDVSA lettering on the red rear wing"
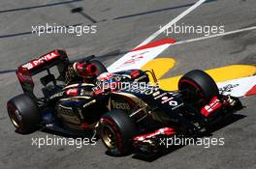
M 34 67 L 37 67 L 37 66 L 43 64 L 44 62 L 48 62 L 49 60 L 51 60 L 51 59 L 53 59 L 57 56 L 58 55 L 55 52 L 48 53 L 47 55 L 42 56 L 39 59 L 33 60 L 33 61 L 23 65 L 22 68 L 26 68 L 28 70 L 31 70 Z

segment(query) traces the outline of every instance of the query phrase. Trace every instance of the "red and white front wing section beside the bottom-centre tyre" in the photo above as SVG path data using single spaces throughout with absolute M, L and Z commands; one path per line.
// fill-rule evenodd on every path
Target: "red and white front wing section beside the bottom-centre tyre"
M 147 133 L 144 135 L 139 135 L 133 138 L 134 141 L 144 141 L 145 139 L 154 138 L 157 135 L 174 135 L 176 134 L 176 131 L 172 127 L 163 127 L 160 129 L 156 129 L 154 132 Z

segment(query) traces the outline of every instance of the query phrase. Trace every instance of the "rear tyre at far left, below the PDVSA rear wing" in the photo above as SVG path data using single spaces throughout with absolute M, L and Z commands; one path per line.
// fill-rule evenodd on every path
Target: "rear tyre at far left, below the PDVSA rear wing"
M 7 111 L 16 132 L 27 134 L 35 131 L 40 123 L 37 103 L 28 95 L 21 94 L 7 102 Z

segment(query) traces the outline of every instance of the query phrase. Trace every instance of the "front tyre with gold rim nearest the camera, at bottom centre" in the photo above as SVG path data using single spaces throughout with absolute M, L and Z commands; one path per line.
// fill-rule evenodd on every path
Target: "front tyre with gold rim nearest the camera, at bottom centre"
M 103 115 L 100 120 L 100 135 L 108 149 L 108 155 L 131 154 L 132 138 L 136 131 L 135 123 L 121 110 L 113 110 Z

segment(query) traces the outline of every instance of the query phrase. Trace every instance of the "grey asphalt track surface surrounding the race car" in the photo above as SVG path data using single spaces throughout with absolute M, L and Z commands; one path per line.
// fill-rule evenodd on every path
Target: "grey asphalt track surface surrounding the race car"
M 110 65 L 195 0 L 15 0 L 0 5 L 0 168 L 256 168 L 256 98 L 242 99 L 246 108 L 232 117 L 227 126 L 212 132 L 211 137 L 224 137 L 224 146 L 185 146 L 151 162 L 133 155 L 105 155 L 100 141 L 81 149 L 69 146 L 31 146 L 32 137 L 46 137 L 37 131 L 16 134 L 6 111 L 6 101 L 21 89 L 13 72 L 20 65 L 54 48 L 63 48 L 71 59 L 95 54 Z M 82 7 L 81 13 L 71 9 Z M 178 23 L 192 25 L 224 25 L 225 31 L 255 26 L 256 2 L 253 0 L 215 0 L 201 5 Z M 95 22 L 96 23 L 93 23 Z M 32 35 L 31 26 L 46 23 L 60 25 L 95 24 L 94 35 Z M 203 35 L 172 35 L 176 41 Z M 161 35 L 156 38 L 166 38 Z M 198 42 L 174 45 L 159 57 L 176 59 L 176 67 L 165 76 L 192 69 L 208 70 L 239 63 L 256 55 L 256 31 L 246 31 Z M 110 54 L 111 53 L 111 54 Z M 246 62 L 251 62 L 247 60 Z M 252 63 L 253 64 L 253 63 Z M 254 63 L 255 64 L 255 63 Z M 232 72 L 230 72 L 232 73 Z

